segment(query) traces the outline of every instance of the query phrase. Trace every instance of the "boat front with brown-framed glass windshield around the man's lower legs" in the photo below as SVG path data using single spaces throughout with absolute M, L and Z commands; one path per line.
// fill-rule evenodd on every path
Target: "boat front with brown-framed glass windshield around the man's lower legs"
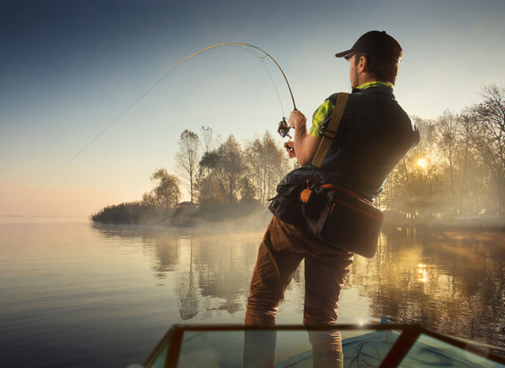
M 505 356 L 419 325 L 338 325 L 344 368 L 505 368 Z M 145 361 L 145 368 L 241 368 L 244 335 L 253 331 L 277 340 L 275 368 L 312 368 L 308 329 L 244 325 L 174 325 Z M 271 365 L 270 365 L 271 366 Z

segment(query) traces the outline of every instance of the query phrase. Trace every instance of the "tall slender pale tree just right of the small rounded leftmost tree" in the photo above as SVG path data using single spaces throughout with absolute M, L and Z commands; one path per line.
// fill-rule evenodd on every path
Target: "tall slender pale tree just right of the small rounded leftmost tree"
M 176 153 L 177 171 L 189 186 L 191 202 L 194 198 L 195 175 L 200 158 L 200 139 L 191 130 L 181 133 L 178 140 L 178 152 Z

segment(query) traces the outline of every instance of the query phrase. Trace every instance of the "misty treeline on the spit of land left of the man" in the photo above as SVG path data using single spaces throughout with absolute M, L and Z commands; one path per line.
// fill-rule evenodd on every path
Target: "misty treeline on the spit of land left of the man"
M 158 168 L 151 176 L 154 188 L 142 200 L 121 203 L 91 215 L 107 224 L 191 224 L 193 221 L 239 219 L 264 210 L 277 184 L 294 162 L 267 131 L 262 137 L 240 144 L 234 135 L 222 142 L 210 127 L 200 135 L 181 133 L 175 154 L 176 174 Z M 188 202 L 179 202 L 181 187 Z

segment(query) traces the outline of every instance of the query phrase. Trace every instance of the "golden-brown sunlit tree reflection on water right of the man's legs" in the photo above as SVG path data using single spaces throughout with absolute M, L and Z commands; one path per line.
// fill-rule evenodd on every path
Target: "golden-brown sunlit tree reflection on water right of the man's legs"
M 352 270 L 370 315 L 505 350 L 503 233 L 389 229 L 381 241 Z

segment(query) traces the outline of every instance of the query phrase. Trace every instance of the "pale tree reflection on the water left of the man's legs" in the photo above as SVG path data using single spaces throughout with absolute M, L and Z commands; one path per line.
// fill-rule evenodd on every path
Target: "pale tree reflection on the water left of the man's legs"
M 243 311 L 262 233 L 227 233 L 94 225 L 107 238 L 142 240 L 152 257 L 153 276 L 175 289 L 182 321 L 207 320 Z M 161 283 L 170 274 L 175 282 Z M 170 278 L 170 281 L 172 279 Z

